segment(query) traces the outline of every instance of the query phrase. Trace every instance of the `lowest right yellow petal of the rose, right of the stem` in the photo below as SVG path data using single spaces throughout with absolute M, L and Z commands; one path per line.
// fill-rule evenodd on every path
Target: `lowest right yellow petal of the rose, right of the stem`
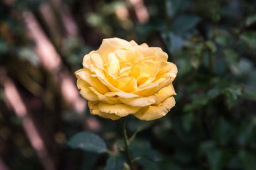
M 162 101 L 162 103 L 142 108 L 139 112 L 133 115 L 140 120 L 155 120 L 165 116 L 174 105 L 174 97 L 168 97 L 166 100 Z

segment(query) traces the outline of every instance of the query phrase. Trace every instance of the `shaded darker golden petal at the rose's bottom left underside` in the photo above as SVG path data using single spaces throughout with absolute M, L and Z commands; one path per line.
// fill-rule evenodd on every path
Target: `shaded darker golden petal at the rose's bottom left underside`
M 98 110 L 98 102 L 88 101 L 88 106 L 90 108 L 90 113 L 92 115 L 97 115 L 102 118 L 107 118 L 110 120 L 118 120 L 121 118 L 120 116 L 117 116 L 115 114 L 106 114 L 106 113 L 100 112 L 100 110 Z

